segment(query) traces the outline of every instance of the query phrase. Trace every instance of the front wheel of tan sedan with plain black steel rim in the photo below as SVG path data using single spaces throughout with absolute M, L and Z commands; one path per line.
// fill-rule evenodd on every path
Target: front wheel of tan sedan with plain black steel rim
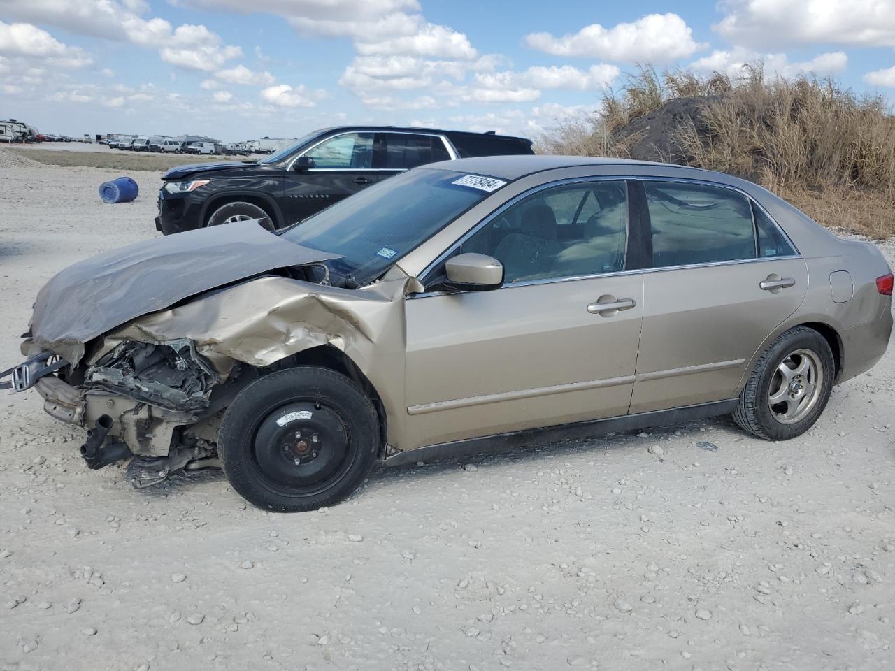
M 252 504 L 294 513 L 333 505 L 358 488 L 379 451 L 379 419 L 349 378 L 316 366 L 246 386 L 227 408 L 217 452 Z

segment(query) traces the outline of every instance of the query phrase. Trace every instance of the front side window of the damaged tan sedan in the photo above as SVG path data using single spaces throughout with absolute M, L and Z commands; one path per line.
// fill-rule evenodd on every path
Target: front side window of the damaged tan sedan
M 519 200 L 463 242 L 504 265 L 504 283 L 625 268 L 626 183 L 574 183 Z

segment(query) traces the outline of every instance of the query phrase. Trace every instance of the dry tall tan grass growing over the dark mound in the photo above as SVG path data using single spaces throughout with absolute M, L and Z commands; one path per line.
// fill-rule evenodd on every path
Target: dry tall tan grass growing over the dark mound
M 628 157 L 627 124 L 675 98 L 702 98 L 696 118 L 669 130 L 677 162 L 761 183 L 832 228 L 895 234 L 895 117 L 882 98 L 831 79 L 770 79 L 760 65 L 739 79 L 642 67 L 598 112 L 559 125 L 539 148 Z

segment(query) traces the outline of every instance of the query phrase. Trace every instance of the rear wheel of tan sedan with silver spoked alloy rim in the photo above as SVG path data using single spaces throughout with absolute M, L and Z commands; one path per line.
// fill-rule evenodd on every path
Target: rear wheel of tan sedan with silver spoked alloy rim
M 830 400 L 836 362 L 817 331 L 778 336 L 755 364 L 733 419 L 758 437 L 787 440 L 811 429 Z

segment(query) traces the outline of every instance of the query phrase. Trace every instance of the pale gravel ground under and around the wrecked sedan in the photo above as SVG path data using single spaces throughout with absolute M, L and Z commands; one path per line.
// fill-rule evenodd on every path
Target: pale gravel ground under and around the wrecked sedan
M 117 175 L 0 150 L 4 365 L 49 276 L 156 234 L 158 174 L 104 205 Z M 893 382 L 890 353 L 785 443 L 693 422 L 379 469 L 294 515 L 219 475 L 135 491 L 4 396 L 0 668 L 892 669 Z

